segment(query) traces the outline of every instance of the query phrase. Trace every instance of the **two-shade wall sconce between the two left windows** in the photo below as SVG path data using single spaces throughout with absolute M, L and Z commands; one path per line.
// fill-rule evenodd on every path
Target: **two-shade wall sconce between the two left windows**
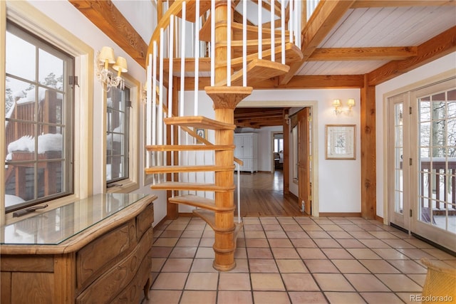
M 117 75 L 109 70 L 109 65 L 113 64 L 113 70 L 117 70 Z M 119 87 L 120 90 L 125 88 L 125 81 L 120 77 L 121 73 L 128 72 L 127 60 L 123 57 L 118 57 L 114 60 L 114 50 L 109 46 L 103 46 L 97 54 L 97 78 L 101 83 L 105 83 L 106 91 L 111 87 Z

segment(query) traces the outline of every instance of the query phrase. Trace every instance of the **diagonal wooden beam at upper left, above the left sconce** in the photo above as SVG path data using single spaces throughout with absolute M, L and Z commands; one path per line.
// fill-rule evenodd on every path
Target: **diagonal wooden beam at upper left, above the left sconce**
M 145 68 L 147 44 L 110 0 L 68 0 L 131 58 Z

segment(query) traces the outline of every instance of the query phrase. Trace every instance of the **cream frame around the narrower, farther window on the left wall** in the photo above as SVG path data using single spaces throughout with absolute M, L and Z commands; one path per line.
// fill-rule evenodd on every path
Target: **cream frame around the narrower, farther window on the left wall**
M 106 187 L 106 135 L 107 135 L 107 101 L 108 101 L 108 93 L 105 91 L 105 87 L 100 87 L 103 90 L 103 174 L 101 178 L 103 179 L 103 189 L 105 189 L 106 193 L 128 193 L 133 192 L 136 189 L 139 189 L 139 179 L 140 179 L 140 171 L 139 171 L 139 160 L 140 160 L 140 103 L 141 103 L 141 96 L 140 93 L 140 82 L 133 78 L 128 73 L 123 73 L 122 78 L 125 80 L 125 87 L 130 89 L 130 113 L 129 113 L 129 127 L 128 127 L 128 178 L 120 179 L 113 184 L 116 184 L 114 187 Z

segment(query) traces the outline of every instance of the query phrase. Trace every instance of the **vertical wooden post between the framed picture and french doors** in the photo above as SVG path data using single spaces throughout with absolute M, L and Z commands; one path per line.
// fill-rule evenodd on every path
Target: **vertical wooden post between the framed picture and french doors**
M 361 88 L 361 216 L 375 219 L 376 201 L 375 154 L 375 86 L 368 85 L 368 74 Z

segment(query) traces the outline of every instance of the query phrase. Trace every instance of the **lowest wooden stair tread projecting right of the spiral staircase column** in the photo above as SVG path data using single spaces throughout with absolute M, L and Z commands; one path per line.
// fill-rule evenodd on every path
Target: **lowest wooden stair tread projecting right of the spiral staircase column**
M 256 59 L 247 65 L 247 85 L 249 83 L 257 83 L 261 80 L 266 80 L 279 75 L 283 75 L 289 71 L 289 65 L 266 61 L 264 59 Z M 242 85 L 242 69 L 233 73 L 231 85 Z M 216 83 L 215 86 L 227 85 L 227 80 L 222 80 Z

